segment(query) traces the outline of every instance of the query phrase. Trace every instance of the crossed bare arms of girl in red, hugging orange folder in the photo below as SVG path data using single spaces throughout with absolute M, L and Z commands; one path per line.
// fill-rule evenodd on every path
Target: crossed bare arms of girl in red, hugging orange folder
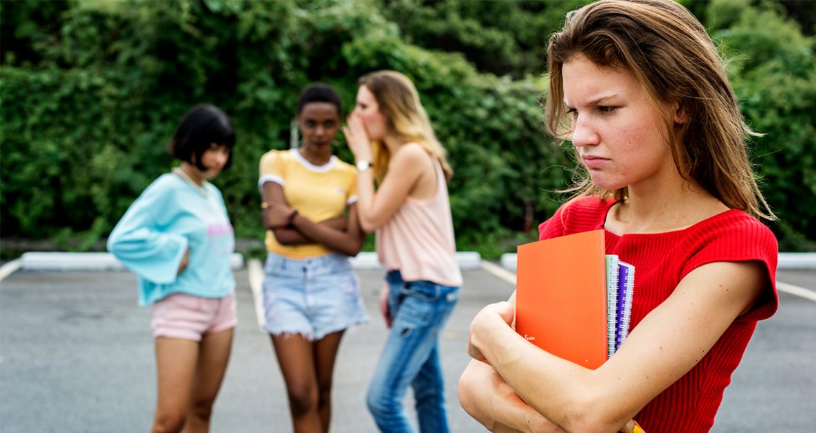
M 552 356 L 512 329 L 515 299 L 473 319 L 459 381 L 463 408 L 493 431 L 619 431 L 688 372 L 768 284 L 761 263 L 694 269 L 596 370 Z

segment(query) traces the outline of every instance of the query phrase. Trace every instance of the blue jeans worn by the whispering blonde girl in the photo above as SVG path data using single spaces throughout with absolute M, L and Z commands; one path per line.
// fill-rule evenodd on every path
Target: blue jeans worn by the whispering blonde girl
M 459 300 L 459 287 L 431 281 L 402 281 L 386 275 L 392 327 L 368 388 L 368 409 L 380 431 L 411 431 L 402 399 L 414 389 L 419 431 L 446 433 L 444 378 L 438 335 Z

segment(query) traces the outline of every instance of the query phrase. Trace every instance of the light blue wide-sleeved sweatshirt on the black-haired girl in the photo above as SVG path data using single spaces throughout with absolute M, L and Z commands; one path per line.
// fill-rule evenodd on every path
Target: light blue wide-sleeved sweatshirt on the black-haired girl
M 187 268 L 177 275 L 188 248 Z M 218 188 L 205 182 L 199 189 L 170 173 L 144 189 L 108 238 L 108 250 L 139 276 L 140 305 L 175 293 L 224 298 L 235 289 L 234 248 Z

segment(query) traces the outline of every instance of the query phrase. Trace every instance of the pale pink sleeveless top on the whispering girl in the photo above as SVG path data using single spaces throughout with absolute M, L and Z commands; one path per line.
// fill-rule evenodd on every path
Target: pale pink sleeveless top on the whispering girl
M 427 280 L 439 285 L 461 286 L 456 261 L 454 223 L 445 175 L 437 158 L 437 193 L 426 200 L 407 197 L 388 223 L 377 230 L 379 262 L 399 270 L 404 281 Z

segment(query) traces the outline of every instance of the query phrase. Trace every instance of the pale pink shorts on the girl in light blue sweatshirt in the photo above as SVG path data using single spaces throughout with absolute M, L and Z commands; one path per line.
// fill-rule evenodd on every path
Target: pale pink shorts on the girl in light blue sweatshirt
M 171 294 L 153 305 L 153 338 L 181 338 L 200 342 L 204 334 L 237 324 L 235 292 L 224 298 Z

